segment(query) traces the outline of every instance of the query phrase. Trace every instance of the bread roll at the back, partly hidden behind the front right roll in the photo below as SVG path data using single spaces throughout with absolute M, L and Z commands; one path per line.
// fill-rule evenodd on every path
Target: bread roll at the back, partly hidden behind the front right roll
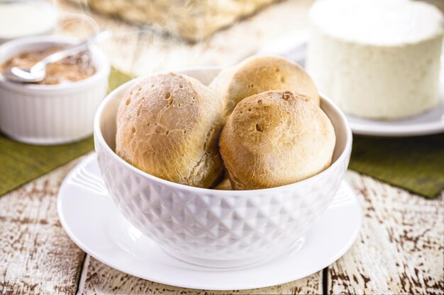
M 224 97 L 226 116 L 243 98 L 270 90 L 296 91 L 319 105 L 318 90 L 310 76 L 301 66 L 282 57 L 248 57 L 221 71 L 210 87 L 218 89 Z

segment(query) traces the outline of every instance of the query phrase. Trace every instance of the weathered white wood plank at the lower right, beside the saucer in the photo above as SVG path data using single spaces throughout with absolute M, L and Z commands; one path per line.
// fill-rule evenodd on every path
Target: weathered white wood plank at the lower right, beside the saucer
M 444 199 L 411 195 L 349 172 L 364 218 L 360 236 L 328 267 L 331 294 L 443 294 Z

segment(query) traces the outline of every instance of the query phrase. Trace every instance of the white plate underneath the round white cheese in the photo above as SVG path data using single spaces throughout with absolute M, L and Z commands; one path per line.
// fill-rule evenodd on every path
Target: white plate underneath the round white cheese
M 259 54 L 277 54 L 305 65 L 308 33 L 292 35 L 263 47 Z M 444 60 L 444 59 L 443 59 Z M 319 89 L 322 91 L 322 89 Z M 331 98 L 333 101 L 335 98 Z M 432 110 L 402 120 L 370 120 L 345 113 L 354 134 L 379 137 L 412 137 L 444 132 L 444 64 L 440 73 L 441 103 Z

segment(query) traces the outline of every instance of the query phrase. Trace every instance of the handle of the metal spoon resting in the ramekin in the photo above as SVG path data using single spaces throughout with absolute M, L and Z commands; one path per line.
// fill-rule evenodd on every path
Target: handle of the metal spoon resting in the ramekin
M 73 56 L 75 54 L 79 54 L 81 52 L 85 52 L 89 49 L 89 45 L 93 44 L 97 40 L 107 37 L 110 35 L 109 30 L 101 30 L 99 33 L 94 34 L 93 36 L 89 37 L 84 42 L 80 43 L 79 45 L 75 45 L 74 47 L 70 47 L 66 50 L 62 50 L 59 52 L 55 52 L 53 54 L 48 55 L 48 57 L 45 57 L 44 59 L 40 60 L 37 64 L 34 64 L 30 68 L 30 73 L 41 71 L 42 69 L 45 69 L 48 64 L 52 64 L 54 62 L 58 62 L 62 59 L 65 59 L 66 57 Z

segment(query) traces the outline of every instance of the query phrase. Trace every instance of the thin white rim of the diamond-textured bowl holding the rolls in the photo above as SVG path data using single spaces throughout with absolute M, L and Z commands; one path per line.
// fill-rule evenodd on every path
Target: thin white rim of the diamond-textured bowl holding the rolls
M 201 71 L 201 70 L 208 70 L 208 69 L 213 69 L 213 70 L 219 69 L 220 70 L 222 68 L 219 66 L 205 66 L 205 67 L 189 68 L 187 70 L 181 69 L 181 71 Z M 148 179 L 155 181 L 157 183 L 160 183 L 162 185 L 168 185 L 170 187 L 175 187 L 179 190 L 187 190 L 189 192 L 194 192 L 194 193 L 199 193 L 199 192 L 206 193 L 208 191 L 211 191 L 212 194 L 216 194 L 216 195 L 232 195 L 235 197 L 240 196 L 240 195 L 246 196 L 246 195 L 251 195 L 251 194 L 257 194 L 257 192 L 261 192 L 261 193 L 264 192 L 265 193 L 265 192 L 277 192 L 279 190 L 289 190 L 292 187 L 299 186 L 303 183 L 314 182 L 318 178 L 320 178 L 321 175 L 328 173 L 329 170 L 332 170 L 334 167 L 336 167 L 338 165 L 342 165 L 342 163 L 343 163 L 343 161 L 345 161 L 345 158 L 347 157 L 347 155 L 351 152 L 353 135 L 352 135 L 352 130 L 350 128 L 350 125 L 348 124 L 347 118 L 345 117 L 343 111 L 340 110 L 338 105 L 335 105 L 335 103 L 333 103 L 333 101 L 330 98 L 323 95 L 323 93 L 319 93 L 319 96 L 321 96 L 321 100 L 325 100 L 328 103 L 328 105 L 330 105 L 331 108 L 333 108 L 333 110 L 336 112 L 336 114 L 339 115 L 340 120 L 343 122 L 345 129 L 346 129 L 345 130 L 346 139 L 345 139 L 345 146 L 344 146 L 343 151 L 341 152 L 340 156 L 338 156 L 336 161 L 331 164 L 331 166 L 328 166 L 328 168 L 326 168 L 325 170 L 322 170 L 320 173 L 317 173 L 316 175 L 313 175 L 313 176 L 306 178 L 304 180 L 300 180 L 296 183 L 290 183 L 289 185 L 280 185 L 278 187 L 269 187 L 269 188 L 260 189 L 260 190 L 215 190 L 215 189 L 211 189 L 211 188 L 193 187 L 190 185 L 183 185 L 181 183 L 174 183 L 170 180 L 158 178 L 157 176 L 151 175 L 149 173 L 146 173 L 143 170 L 135 168 L 130 163 L 123 160 L 123 158 L 119 157 L 116 154 L 116 152 L 113 151 L 111 149 L 111 147 L 106 143 L 104 136 L 101 133 L 101 128 L 100 128 L 101 114 L 102 114 L 104 108 L 106 107 L 106 105 L 108 105 L 109 101 L 112 100 L 114 98 L 114 96 L 116 96 L 116 93 L 120 92 L 123 88 L 130 86 L 131 84 L 135 83 L 136 81 L 138 81 L 140 79 L 144 79 L 147 76 L 151 76 L 152 74 L 153 73 L 143 75 L 143 76 L 140 76 L 135 79 L 131 79 L 130 81 L 123 83 L 121 86 L 118 86 L 116 89 L 111 91 L 111 93 L 109 93 L 106 96 L 106 98 L 104 98 L 104 100 L 102 100 L 101 104 L 99 105 L 99 108 L 96 111 L 96 115 L 94 117 L 94 141 L 99 141 L 98 144 L 100 144 L 102 146 L 102 148 L 105 150 L 106 153 L 110 153 L 111 157 L 113 157 L 116 161 L 118 161 L 118 163 L 121 163 L 123 166 L 126 166 L 127 168 L 131 169 L 135 173 L 138 173 L 139 175 L 143 176 L 144 178 L 148 178 Z

